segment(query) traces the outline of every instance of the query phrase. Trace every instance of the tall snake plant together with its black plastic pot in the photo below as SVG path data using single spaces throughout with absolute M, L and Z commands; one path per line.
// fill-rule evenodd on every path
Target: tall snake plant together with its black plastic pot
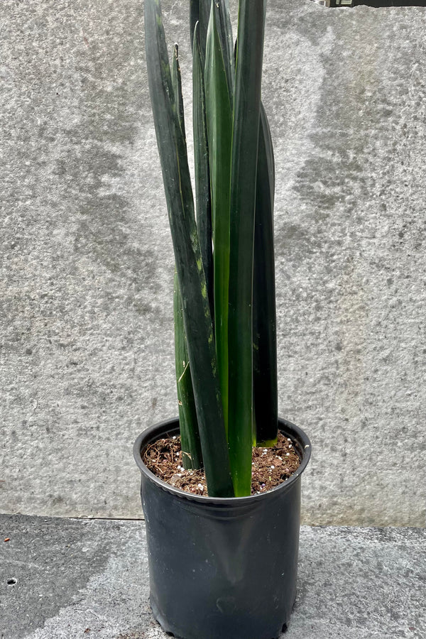
M 310 442 L 278 418 L 273 254 L 274 160 L 261 104 L 266 0 L 190 0 L 195 202 L 178 47 L 170 67 L 160 0 L 145 1 L 148 80 L 175 253 L 179 419 L 144 431 L 141 469 L 150 601 L 183 639 L 272 639 L 295 601 L 300 475 Z M 196 209 L 196 216 L 195 216 Z M 251 494 L 253 444 L 291 441 L 300 466 Z M 185 469 L 208 496 L 170 486 L 147 447 L 180 433 Z

